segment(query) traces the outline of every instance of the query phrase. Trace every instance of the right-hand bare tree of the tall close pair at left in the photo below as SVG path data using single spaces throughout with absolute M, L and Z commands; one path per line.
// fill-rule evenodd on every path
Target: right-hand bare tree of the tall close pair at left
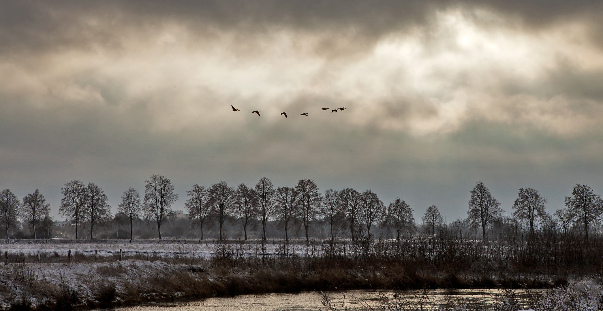
M 95 183 L 86 187 L 86 204 L 84 204 L 83 219 L 90 224 L 90 240 L 93 239 L 94 225 L 104 224 L 111 219 L 111 207 L 107 204 L 109 198 Z

